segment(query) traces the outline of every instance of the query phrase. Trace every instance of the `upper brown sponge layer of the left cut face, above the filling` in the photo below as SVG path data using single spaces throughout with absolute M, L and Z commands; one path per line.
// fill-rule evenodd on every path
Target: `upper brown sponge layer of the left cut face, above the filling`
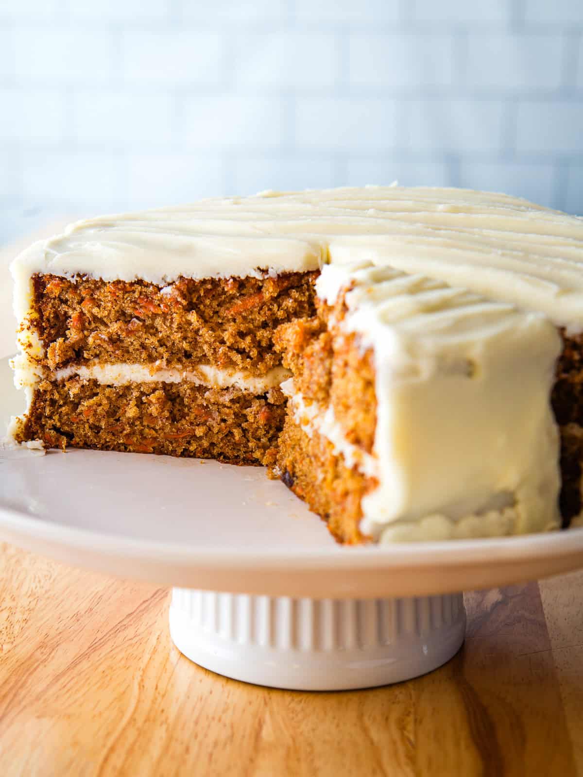
M 265 375 L 278 366 L 274 330 L 312 315 L 313 274 L 145 281 L 33 277 L 30 329 L 51 370 L 99 361 L 180 369 L 199 363 Z

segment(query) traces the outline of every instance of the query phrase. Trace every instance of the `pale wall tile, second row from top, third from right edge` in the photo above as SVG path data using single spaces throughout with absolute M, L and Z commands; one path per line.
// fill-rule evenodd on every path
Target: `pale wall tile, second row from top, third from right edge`
M 348 80 L 354 85 L 427 86 L 452 82 L 452 37 L 436 33 L 354 33 Z

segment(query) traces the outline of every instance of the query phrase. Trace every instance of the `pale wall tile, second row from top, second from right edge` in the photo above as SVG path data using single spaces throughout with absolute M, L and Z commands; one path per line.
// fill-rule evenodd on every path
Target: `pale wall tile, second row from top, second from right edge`
M 560 85 L 562 59 L 559 35 L 470 33 L 460 77 L 477 87 L 552 89 Z

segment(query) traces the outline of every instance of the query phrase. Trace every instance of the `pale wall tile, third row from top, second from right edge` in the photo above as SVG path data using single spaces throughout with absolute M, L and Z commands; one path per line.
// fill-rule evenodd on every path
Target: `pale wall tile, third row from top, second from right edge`
M 500 148 L 502 104 L 469 99 L 413 100 L 404 107 L 407 138 L 404 145 L 418 150 L 494 151 Z

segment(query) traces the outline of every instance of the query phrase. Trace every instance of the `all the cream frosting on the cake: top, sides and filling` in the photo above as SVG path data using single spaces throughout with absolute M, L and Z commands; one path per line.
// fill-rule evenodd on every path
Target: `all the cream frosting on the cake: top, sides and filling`
M 559 524 L 550 389 L 555 326 L 583 331 L 581 218 L 459 189 L 264 192 L 79 221 L 30 246 L 11 269 L 19 322 L 35 273 L 166 286 L 322 269 L 319 296 L 331 303 L 351 286 L 344 326 L 374 353 L 373 455 L 347 447 L 330 409 L 312 418 L 335 450 L 379 475 L 362 503 L 363 533 L 472 535 L 484 517 L 498 534 Z M 26 326 L 20 342 L 42 355 Z M 137 375 L 136 366 L 114 365 L 117 379 Z M 15 367 L 30 401 L 34 361 L 21 355 Z M 75 369 L 89 370 L 66 368 Z M 66 370 L 61 378 L 73 374 Z M 292 385 L 288 392 L 305 416 Z

